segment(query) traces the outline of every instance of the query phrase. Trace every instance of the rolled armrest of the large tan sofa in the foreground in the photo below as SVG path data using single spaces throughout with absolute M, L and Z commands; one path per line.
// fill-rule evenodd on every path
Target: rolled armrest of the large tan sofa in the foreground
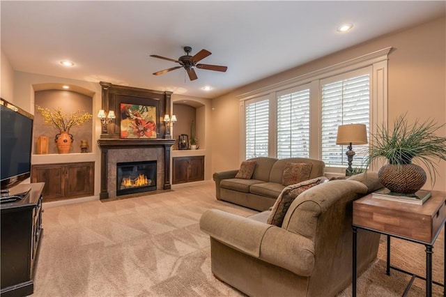
M 313 273 L 314 243 L 300 234 L 217 209 L 201 215 L 200 229 L 231 248 L 297 275 Z

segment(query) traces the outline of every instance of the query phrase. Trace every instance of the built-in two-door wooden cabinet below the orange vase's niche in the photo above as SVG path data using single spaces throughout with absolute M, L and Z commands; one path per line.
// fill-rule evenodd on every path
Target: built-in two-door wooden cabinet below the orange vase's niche
M 45 202 L 94 195 L 94 162 L 33 165 L 31 181 L 44 182 Z

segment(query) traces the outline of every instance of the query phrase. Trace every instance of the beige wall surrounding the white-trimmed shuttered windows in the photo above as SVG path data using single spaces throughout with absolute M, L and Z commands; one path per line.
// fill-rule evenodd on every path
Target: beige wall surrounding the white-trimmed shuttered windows
M 240 165 L 239 100 L 237 96 L 286 79 L 393 47 L 388 61 L 388 121 L 407 112 L 408 121 L 435 119 L 446 123 L 446 21 L 442 17 L 410 29 L 387 34 L 348 50 L 243 86 L 213 100 L 212 171 Z M 446 127 L 439 131 L 446 136 Z M 440 162 L 434 190 L 446 191 L 446 162 Z M 425 187 L 429 187 L 426 183 Z

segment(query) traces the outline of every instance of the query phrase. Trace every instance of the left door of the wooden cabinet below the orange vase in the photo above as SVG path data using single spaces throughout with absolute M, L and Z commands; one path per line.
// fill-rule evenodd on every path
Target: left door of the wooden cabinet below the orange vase
M 31 181 L 45 183 L 43 197 L 45 201 L 60 199 L 65 194 L 64 165 L 33 165 L 31 168 Z

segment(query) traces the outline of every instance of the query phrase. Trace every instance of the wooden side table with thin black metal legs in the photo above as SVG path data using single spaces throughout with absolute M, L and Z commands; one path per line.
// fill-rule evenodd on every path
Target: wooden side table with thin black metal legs
M 403 296 L 406 296 L 415 277 L 426 280 L 426 296 L 432 296 L 432 284 L 443 287 L 443 296 L 446 296 L 446 264 L 443 266 L 443 284 L 432 280 L 432 254 L 433 244 L 446 220 L 446 193 L 432 192 L 423 205 L 408 204 L 398 201 L 387 201 L 367 195 L 353 202 L 353 297 L 356 296 L 356 269 L 357 269 L 357 229 L 374 231 L 387 236 L 387 267 L 385 273 L 390 275 L 390 268 L 412 275 Z M 426 247 L 426 277 L 403 271 L 390 265 L 390 237 L 401 238 L 406 241 L 420 243 Z M 446 247 L 446 236 L 445 236 Z M 443 259 L 446 258 L 446 248 Z

